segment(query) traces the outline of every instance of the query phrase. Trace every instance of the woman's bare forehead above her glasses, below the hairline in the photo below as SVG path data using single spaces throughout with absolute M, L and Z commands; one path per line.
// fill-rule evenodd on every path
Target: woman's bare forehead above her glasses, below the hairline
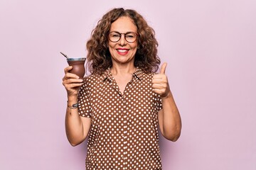
M 114 21 L 110 26 L 110 31 L 117 31 L 119 33 L 134 32 L 137 33 L 137 26 L 128 16 L 122 16 Z

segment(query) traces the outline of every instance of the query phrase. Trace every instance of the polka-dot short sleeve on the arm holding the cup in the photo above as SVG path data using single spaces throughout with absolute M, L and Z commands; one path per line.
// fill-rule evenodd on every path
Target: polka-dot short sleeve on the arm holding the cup
M 91 117 L 90 96 L 85 79 L 78 94 L 78 113 L 85 118 Z

